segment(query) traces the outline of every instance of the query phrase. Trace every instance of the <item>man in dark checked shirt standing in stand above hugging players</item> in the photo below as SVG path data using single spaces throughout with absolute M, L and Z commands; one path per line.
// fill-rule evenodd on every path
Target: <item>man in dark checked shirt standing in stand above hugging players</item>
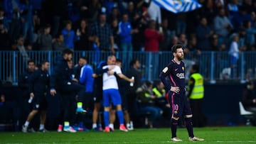
M 105 13 L 100 13 L 99 21 L 92 23 L 89 40 L 92 43 L 99 43 L 102 52 L 111 51 L 114 53 L 114 37 L 110 25 L 106 23 Z

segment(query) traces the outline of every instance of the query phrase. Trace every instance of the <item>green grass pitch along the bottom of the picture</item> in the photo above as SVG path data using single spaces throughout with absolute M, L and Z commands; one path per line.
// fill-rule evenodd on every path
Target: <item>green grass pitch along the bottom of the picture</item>
M 194 128 L 194 134 L 205 141 L 188 141 L 186 128 L 178 128 L 177 135 L 183 140 L 179 143 L 256 143 L 256 127 L 206 127 Z M 0 132 L 0 143 L 174 143 L 171 142 L 170 128 L 135 129 L 122 132 L 119 130 L 110 133 L 103 132 L 78 132 L 58 133 L 21 133 Z

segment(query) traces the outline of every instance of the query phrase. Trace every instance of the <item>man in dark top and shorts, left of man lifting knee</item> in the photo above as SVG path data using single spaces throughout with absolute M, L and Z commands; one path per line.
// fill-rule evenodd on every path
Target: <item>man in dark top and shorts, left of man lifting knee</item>
M 31 113 L 28 114 L 28 118 L 22 126 L 23 133 L 28 132 L 28 125 L 33 117 L 36 116 L 36 113 L 38 113 L 38 111 L 41 111 L 39 131 L 43 133 L 46 132 L 44 125 L 46 123 L 47 108 L 46 94 L 50 82 L 50 75 L 48 74 L 49 68 L 50 62 L 48 62 L 48 60 L 44 60 L 43 62 L 41 62 L 41 69 L 33 72 L 28 80 L 28 92 L 31 99 L 33 99 L 31 101 L 33 105 L 33 110 L 31 111 Z

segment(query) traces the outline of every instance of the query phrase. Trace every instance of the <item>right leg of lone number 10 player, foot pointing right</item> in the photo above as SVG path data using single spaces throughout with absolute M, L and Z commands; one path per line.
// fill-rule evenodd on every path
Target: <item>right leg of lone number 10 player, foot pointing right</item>
M 185 125 L 188 131 L 188 140 L 191 141 L 203 141 L 203 138 L 197 138 L 194 134 L 193 134 L 193 123 L 192 123 L 192 111 L 191 111 L 191 107 L 189 105 L 188 99 L 186 96 L 183 96 L 183 104 L 184 104 L 184 109 L 183 109 L 183 114 L 184 114 L 184 119 L 185 119 Z

